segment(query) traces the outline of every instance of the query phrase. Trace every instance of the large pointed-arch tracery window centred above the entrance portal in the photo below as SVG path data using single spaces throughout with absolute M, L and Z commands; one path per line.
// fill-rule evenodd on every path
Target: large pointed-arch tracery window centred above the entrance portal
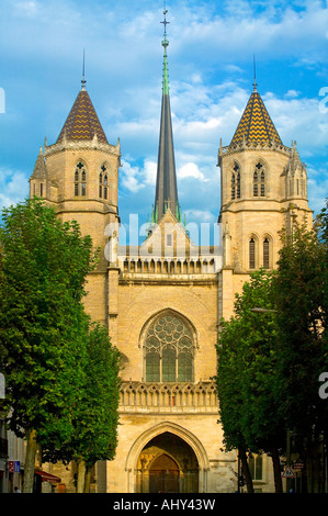
M 182 317 L 159 316 L 147 330 L 145 354 L 147 382 L 193 381 L 194 338 Z

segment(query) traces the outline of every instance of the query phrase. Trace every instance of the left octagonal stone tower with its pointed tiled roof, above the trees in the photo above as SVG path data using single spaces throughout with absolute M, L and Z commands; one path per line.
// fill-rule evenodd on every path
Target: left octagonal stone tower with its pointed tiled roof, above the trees
M 45 142 L 30 178 L 30 195 L 54 206 L 58 216 L 77 221 L 90 235 L 93 247 L 101 248 L 97 271 L 88 279 L 87 310 L 106 323 L 106 268 L 103 249 L 105 228 L 118 224 L 117 188 L 121 159 L 120 142 L 111 145 L 98 119 L 82 79 L 81 89 L 53 145 Z

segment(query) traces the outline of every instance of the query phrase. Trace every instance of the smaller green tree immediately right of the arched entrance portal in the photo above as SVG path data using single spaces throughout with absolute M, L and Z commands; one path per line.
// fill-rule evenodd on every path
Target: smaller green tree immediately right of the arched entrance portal
M 273 389 L 276 325 L 271 281 L 270 273 L 257 271 L 236 295 L 235 315 L 219 336 L 217 383 L 226 442 L 234 447 L 236 437 L 242 438 L 244 448 L 270 455 L 275 490 L 282 492 L 280 455 L 285 431 L 276 417 L 279 399 Z M 257 307 L 264 312 L 256 313 Z

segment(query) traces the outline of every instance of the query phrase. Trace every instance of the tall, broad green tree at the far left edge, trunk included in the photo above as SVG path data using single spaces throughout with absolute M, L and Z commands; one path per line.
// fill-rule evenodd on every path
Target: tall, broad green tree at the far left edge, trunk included
M 84 281 L 95 256 L 77 223 L 27 200 L 2 212 L 0 369 L 10 428 L 27 440 L 24 492 L 32 492 L 36 442 L 59 448 L 73 430 L 83 369 Z

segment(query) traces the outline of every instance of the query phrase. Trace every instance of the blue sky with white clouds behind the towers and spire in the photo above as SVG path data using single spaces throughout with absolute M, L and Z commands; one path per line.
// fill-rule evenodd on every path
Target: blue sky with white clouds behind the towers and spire
M 80 89 L 108 139 L 120 137 L 120 214 L 142 222 L 155 195 L 162 1 L 0 0 L 0 207 L 27 197 L 47 137 L 55 143 Z M 327 1 L 168 0 L 178 189 L 188 222 L 219 212 L 219 139 L 228 145 L 253 82 L 287 146 L 307 164 L 315 213 L 328 192 Z M 4 111 L 4 112 L 1 112 Z

